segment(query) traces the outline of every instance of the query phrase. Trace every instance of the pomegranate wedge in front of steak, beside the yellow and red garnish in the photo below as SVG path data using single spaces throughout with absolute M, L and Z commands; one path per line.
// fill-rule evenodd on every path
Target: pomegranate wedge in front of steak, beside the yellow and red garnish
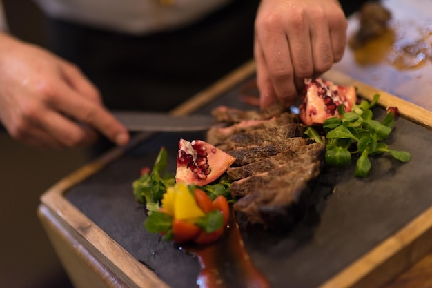
M 233 156 L 202 140 L 180 139 L 175 181 L 207 185 L 222 176 L 234 161 Z

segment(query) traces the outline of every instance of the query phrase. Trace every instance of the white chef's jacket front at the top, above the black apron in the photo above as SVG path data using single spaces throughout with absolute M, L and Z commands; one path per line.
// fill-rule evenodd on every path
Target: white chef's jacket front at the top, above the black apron
M 233 0 L 34 0 L 50 17 L 128 34 L 197 21 Z

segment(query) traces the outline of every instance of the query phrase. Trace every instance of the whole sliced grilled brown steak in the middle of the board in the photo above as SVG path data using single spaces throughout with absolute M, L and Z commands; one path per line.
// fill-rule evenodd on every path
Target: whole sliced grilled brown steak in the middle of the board
M 260 112 L 218 107 L 213 115 L 235 123 L 207 134 L 209 143 L 236 158 L 227 171 L 238 199 L 234 209 L 265 227 L 291 225 L 320 174 L 325 145 L 303 138 L 299 117 L 278 105 Z

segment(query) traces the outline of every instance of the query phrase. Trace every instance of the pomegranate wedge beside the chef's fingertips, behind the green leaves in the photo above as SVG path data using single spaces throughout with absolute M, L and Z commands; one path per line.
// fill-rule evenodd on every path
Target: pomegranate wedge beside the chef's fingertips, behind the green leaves
M 350 112 L 357 101 L 354 86 L 336 85 L 321 78 L 305 79 L 304 83 L 299 109 L 305 125 L 320 125 L 328 118 L 339 116 L 337 107 L 340 105 L 344 105 L 345 112 Z

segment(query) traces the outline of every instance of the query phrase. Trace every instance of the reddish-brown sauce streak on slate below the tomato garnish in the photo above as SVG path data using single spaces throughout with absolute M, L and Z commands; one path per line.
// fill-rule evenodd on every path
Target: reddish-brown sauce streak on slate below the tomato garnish
M 234 212 L 230 214 L 224 235 L 215 243 L 205 246 L 184 245 L 181 249 L 199 259 L 201 272 L 197 284 L 201 288 L 270 287 L 244 247 Z

